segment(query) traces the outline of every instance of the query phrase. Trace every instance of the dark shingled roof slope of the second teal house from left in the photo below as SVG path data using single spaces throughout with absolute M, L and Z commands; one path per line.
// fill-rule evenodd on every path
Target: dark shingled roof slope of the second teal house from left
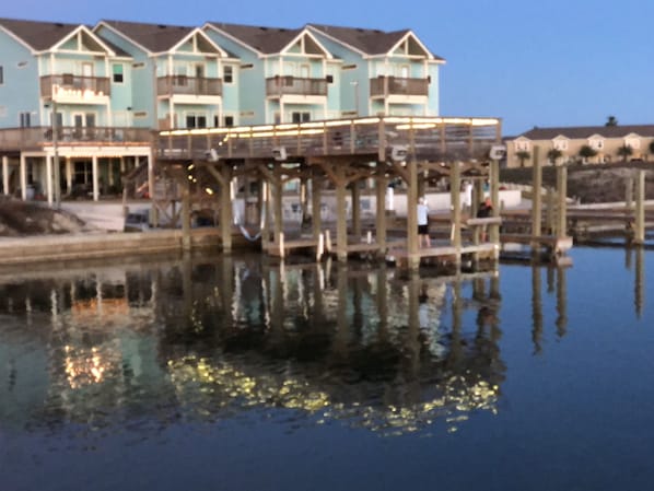
M 182 25 L 106 20 L 101 21 L 100 24 L 114 28 L 150 52 L 171 50 L 197 28 Z

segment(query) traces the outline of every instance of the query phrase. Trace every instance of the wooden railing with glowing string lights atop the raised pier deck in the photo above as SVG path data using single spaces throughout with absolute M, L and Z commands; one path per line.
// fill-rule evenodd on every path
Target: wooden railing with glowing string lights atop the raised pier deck
M 487 160 L 501 139 L 497 118 L 373 117 L 236 128 L 161 131 L 161 160 L 366 155 L 375 161 Z

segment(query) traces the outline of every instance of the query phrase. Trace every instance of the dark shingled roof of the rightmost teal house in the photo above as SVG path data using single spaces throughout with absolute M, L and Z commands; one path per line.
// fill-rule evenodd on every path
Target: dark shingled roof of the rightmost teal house
M 331 37 L 364 55 L 386 55 L 408 36 L 413 36 L 422 46 L 410 30 L 385 32 L 379 30 L 340 27 L 324 24 L 307 24 L 307 27 Z M 434 55 L 427 47 L 422 47 L 428 55 L 431 55 L 434 58 L 434 60 L 445 61 L 444 58 Z

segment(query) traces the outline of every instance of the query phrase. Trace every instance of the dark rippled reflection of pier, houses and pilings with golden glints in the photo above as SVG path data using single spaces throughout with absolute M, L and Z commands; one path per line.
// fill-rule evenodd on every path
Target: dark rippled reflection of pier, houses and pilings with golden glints
M 561 269 L 560 336 L 564 285 Z M 367 264 L 188 257 L 10 274 L 0 293 L 0 421 L 13 428 L 291 410 L 385 434 L 455 431 L 471 411 L 498 411 L 505 376 L 497 270 L 406 278 Z

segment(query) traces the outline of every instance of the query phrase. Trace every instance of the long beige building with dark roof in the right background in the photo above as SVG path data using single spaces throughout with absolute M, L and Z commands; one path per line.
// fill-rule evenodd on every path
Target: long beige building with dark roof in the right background
M 654 160 L 654 125 L 534 128 L 506 140 L 506 166 L 532 166 L 536 148 L 542 165 Z

